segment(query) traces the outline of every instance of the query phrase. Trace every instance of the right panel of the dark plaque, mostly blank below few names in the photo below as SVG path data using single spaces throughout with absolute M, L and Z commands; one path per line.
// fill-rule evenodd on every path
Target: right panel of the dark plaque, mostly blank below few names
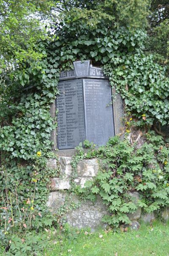
M 108 80 L 84 79 L 86 138 L 105 145 L 114 136 L 112 94 Z

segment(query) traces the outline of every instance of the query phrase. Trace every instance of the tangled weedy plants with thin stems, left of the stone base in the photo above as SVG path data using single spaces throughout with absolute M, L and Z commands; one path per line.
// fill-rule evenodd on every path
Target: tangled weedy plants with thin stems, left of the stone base
M 46 183 L 57 174 L 46 168 L 46 158 L 40 153 L 32 155 L 29 163 L 1 158 L 0 245 L 7 255 L 40 252 L 45 245 L 44 228 L 57 225 L 46 209 Z

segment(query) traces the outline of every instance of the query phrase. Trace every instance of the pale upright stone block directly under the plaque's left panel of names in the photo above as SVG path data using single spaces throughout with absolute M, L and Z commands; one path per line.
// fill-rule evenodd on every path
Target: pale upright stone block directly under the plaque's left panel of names
M 70 178 L 72 174 L 71 161 L 72 158 L 68 156 L 59 156 L 59 167 L 60 167 L 60 176 L 62 178 Z

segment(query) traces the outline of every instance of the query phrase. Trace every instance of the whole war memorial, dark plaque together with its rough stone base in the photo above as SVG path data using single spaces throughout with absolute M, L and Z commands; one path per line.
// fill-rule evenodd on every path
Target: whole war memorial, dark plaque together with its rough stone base
M 67 192 L 71 189 L 74 168 L 71 165 L 74 147 L 85 139 L 96 145 L 105 145 L 109 137 L 123 133 L 123 101 L 115 95 L 109 79 L 104 76 L 101 68 L 93 67 L 90 61 L 75 61 L 74 70 L 62 71 L 58 83 L 60 94 L 51 106 L 51 115 L 55 117 L 58 110 L 57 130 L 52 131 L 54 150 L 58 159 L 49 159 L 47 167 L 59 173 L 51 179 L 51 193 L 47 205 L 52 212 L 67 202 L 78 206 L 66 212 L 65 221 L 77 228 L 90 227 L 94 230 L 103 225 L 102 217 L 109 214 L 101 198 L 93 204 L 71 198 Z M 115 97 L 112 98 L 112 95 Z M 58 150 L 59 149 L 59 150 Z M 74 184 L 85 186 L 99 171 L 97 159 L 83 159 L 76 169 Z M 63 221 L 63 219 L 62 219 Z

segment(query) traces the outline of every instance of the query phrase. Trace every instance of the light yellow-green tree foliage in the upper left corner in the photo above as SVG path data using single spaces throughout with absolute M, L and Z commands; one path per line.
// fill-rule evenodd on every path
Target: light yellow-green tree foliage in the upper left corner
M 49 18 L 52 3 L 46 0 L 0 0 L 0 68 L 8 62 L 41 58 L 35 44 L 48 37 L 41 19 Z

